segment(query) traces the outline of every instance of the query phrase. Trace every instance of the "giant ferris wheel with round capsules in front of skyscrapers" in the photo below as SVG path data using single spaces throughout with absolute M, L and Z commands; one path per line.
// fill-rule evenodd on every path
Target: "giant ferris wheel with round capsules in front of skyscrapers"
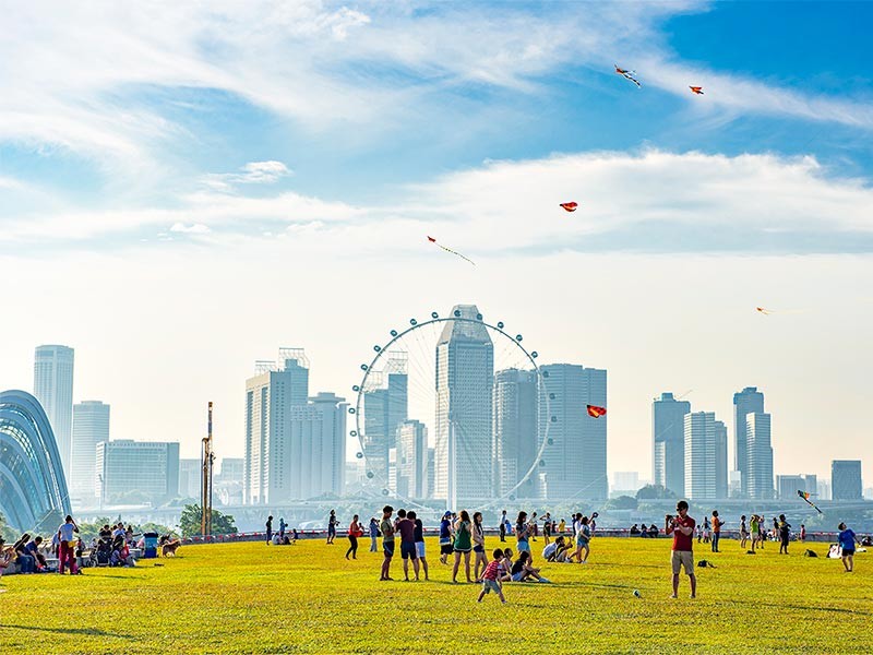
M 523 335 L 473 305 L 388 334 L 348 408 L 358 491 L 431 512 L 541 497 L 554 394 Z

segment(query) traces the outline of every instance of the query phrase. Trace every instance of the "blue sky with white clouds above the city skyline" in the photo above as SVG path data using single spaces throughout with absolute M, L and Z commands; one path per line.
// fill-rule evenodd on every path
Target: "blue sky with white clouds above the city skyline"
M 0 389 L 70 345 L 113 439 L 196 456 L 214 401 L 241 456 L 255 360 L 350 397 L 470 302 L 608 369 L 611 472 L 650 476 L 661 392 L 732 434 L 756 385 L 777 474 L 873 481 L 873 4 L 0 11 Z

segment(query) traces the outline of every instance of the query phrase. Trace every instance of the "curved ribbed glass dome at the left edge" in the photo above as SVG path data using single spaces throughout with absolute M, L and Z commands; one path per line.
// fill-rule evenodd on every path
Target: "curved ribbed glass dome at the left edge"
M 71 513 L 55 433 L 24 391 L 0 393 L 0 512 L 22 531 Z

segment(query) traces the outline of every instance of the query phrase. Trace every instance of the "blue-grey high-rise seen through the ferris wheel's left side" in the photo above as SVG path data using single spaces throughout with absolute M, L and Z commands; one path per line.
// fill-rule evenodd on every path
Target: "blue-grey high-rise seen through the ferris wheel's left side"
M 385 478 L 388 449 L 408 417 L 406 353 L 388 353 L 384 371 L 371 372 L 363 393 L 363 451 L 372 473 Z

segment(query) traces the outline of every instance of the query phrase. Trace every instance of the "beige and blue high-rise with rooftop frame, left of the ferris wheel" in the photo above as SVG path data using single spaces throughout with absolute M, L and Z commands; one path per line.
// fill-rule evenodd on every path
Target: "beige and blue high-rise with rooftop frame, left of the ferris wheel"
M 301 348 L 282 348 L 279 362 L 259 361 L 246 381 L 246 485 L 249 504 L 277 503 L 290 491 L 290 410 L 307 404 L 309 361 Z

